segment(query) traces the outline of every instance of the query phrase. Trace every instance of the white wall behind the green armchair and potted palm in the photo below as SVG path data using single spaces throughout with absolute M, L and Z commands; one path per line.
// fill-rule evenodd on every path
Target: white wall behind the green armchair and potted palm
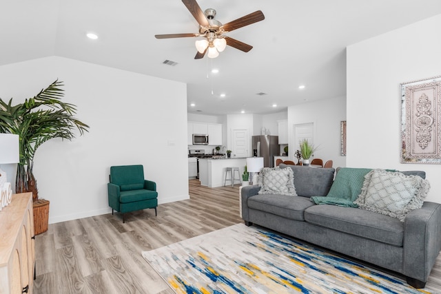
M 57 78 L 90 132 L 37 150 L 34 174 L 51 223 L 110 213 L 112 165 L 144 165 L 160 203 L 189 198 L 184 83 L 53 56 L 1 66 L 0 97 L 17 104 Z

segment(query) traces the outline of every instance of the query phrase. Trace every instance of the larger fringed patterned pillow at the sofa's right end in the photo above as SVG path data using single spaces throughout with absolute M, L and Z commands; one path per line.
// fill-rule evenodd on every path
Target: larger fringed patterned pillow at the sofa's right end
M 422 207 L 430 185 L 420 176 L 405 176 L 399 171 L 373 169 L 354 203 L 361 209 L 382 213 L 404 222 L 407 213 Z

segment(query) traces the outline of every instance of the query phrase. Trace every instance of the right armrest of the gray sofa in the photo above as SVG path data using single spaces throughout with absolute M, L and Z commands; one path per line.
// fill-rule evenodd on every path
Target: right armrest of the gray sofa
M 427 281 L 441 250 L 441 204 L 424 202 L 404 220 L 403 273 Z

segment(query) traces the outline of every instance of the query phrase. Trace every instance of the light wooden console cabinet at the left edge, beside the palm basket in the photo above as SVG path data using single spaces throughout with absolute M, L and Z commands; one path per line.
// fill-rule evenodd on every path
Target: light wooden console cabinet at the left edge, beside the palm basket
M 0 294 L 32 293 L 34 216 L 32 193 L 12 196 L 0 211 Z

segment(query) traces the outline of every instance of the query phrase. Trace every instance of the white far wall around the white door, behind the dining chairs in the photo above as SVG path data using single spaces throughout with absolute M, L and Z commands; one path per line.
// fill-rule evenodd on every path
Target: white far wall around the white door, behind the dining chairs
M 288 155 L 291 160 L 298 142 L 294 142 L 294 125 L 314 123 L 314 158 L 334 161 L 334 167 L 345 167 L 346 156 L 341 156 L 340 122 L 346 120 L 346 97 L 329 98 L 288 107 Z M 297 163 L 297 159 L 294 160 Z

